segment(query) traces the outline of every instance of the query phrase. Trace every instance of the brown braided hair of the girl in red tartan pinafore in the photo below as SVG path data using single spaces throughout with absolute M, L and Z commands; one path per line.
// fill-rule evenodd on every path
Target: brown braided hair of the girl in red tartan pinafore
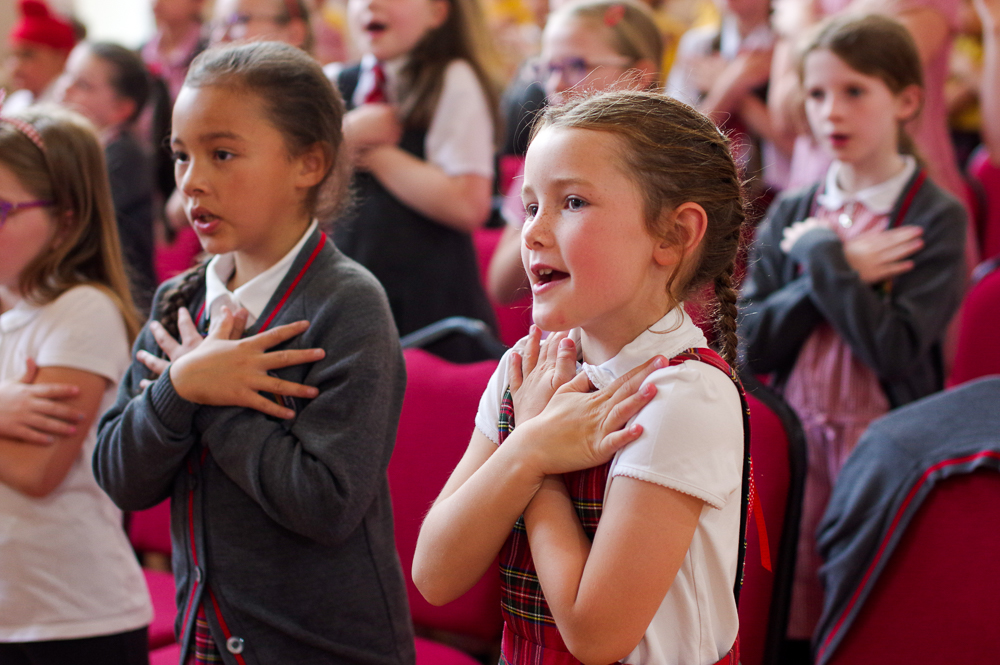
M 746 213 L 743 183 L 729 139 L 690 106 L 654 92 L 609 91 L 550 106 L 535 125 L 609 132 L 621 141 L 625 173 L 643 197 L 646 229 L 654 238 L 682 243 L 683 228 L 669 213 L 685 202 L 705 209 L 705 236 L 691 260 L 682 261 L 667 292 L 676 302 L 711 284 L 721 355 L 736 360 L 736 255 Z M 678 277 L 683 283 L 676 284 Z

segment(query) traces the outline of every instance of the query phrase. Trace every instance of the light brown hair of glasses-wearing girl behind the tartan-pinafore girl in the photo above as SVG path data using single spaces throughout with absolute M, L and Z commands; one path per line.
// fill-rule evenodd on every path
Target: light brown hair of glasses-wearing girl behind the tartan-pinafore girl
M 608 45 L 633 63 L 649 60 L 660 71 L 663 35 L 646 5 L 629 0 L 583 0 L 559 8 L 549 16 L 549 21 L 570 17 L 586 19 L 605 30 Z

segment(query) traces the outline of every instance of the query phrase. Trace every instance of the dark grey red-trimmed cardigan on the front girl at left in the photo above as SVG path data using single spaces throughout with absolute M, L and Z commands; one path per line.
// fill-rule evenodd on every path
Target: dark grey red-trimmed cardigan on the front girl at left
M 227 664 L 414 661 L 386 479 L 403 358 L 381 287 L 320 241 L 309 238 L 247 331 L 287 295 L 270 327 L 312 325 L 275 348 L 326 349 L 276 372 L 320 389 L 296 400 L 293 420 L 193 404 L 167 375 L 139 392 L 148 373 L 133 362 L 100 424 L 94 472 L 111 498 L 124 510 L 172 499 L 182 644 L 203 603 Z M 201 289 L 192 316 L 203 300 Z M 148 326 L 139 349 L 159 353 Z

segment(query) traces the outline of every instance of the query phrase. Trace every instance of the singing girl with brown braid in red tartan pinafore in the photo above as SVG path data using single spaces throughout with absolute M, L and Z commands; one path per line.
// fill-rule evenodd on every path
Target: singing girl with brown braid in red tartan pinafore
M 538 327 L 483 395 L 414 582 L 446 603 L 499 555 L 501 663 L 735 664 L 744 210 L 728 141 L 659 94 L 578 99 L 539 120 L 522 197 Z M 721 357 L 682 307 L 708 286 Z

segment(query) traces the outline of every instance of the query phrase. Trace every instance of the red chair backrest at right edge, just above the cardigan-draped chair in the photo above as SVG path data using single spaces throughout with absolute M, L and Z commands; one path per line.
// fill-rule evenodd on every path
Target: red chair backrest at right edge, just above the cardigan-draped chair
M 976 269 L 976 280 L 962 303 L 958 343 L 948 385 L 1000 374 L 1000 257 Z

